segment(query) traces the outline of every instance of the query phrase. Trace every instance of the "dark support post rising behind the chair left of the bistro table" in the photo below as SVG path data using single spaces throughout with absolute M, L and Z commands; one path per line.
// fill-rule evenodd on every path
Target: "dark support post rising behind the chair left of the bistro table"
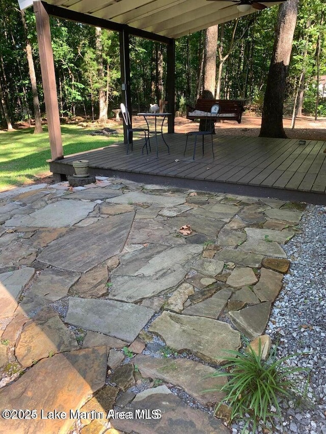
M 129 111 L 130 122 L 132 127 L 132 113 L 131 113 L 131 86 L 130 86 L 130 50 L 129 50 L 129 32 L 127 28 L 123 28 L 120 32 L 120 70 L 121 70 L 121 86 L 122 86 L 122 99 Z M 126 126 L 123 125 L 124 142 L 128 142 L 128 133 Z M 132 137 L 131 137 L 132 140 Z

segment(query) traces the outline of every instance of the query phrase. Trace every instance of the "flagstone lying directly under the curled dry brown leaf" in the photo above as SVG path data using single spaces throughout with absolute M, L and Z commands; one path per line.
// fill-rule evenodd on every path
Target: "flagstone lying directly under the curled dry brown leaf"
M 191 211 L 191 213 L 195 211 Z M 204 216 L 199 217 L 193 215 L 172 217 L 167 222 L 167 225 L 173 226 L 177 231 L 185 224 L 189 224 L 195 233 L 207 235 L 213 240 L 215 239 L 216 234 L 218 234 L 221 227 L 224 225 L 224 222 L 221 220 L 214 220 L 212 218 L 205 218 Z

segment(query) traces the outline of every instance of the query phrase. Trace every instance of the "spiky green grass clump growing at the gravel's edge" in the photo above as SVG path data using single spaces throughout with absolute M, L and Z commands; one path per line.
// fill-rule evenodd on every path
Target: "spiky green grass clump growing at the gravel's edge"
M 307 368 L 291 367 L 286 361 L 293 357 L 283 357 L 276 360 L 276 348 L 266 361 L 261 359 L 261 342 L 259 340 L 258 354 L 248 345 L 245 352 L 228 351 L 227 363 L 223 365 L 212 377 L 228 377 L 228 383 L 222 391 L 226 397 L 214 410 L 216 414 L 223 403 L 231 407 L 231 421 L 242 419 L 244 427 L 241 432 L 251 428 L 256 432 L 258 425 L 266 427 L 273 425 L 273 418 L 281 417 L 279 401 L 282 398 L 301 395 L 298 383 L 302 384 L 295 375 L 306 371 Z M 223 370 L 222 370 L 223 369 Z M 308 379 L 307 379 L 308 385 Z

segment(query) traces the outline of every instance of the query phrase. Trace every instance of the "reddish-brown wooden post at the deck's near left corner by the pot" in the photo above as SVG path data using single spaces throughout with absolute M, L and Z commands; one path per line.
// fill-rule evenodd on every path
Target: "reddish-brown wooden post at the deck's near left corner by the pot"
M 52 160 L 60 160 L 63 158 L 63 147 L 60 129 L 55 64 L 53 62 L 53 52 L 51 46 L 49 16 L 40 0 L 33 2 L 33 6 L 36 17 L 37 42 L 39 45 L 51 158 Z

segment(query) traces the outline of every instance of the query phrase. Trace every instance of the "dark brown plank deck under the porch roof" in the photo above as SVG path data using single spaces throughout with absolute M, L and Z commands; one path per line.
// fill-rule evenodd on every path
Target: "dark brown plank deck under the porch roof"
M 193 161 L 194 137 L 189 137 L 183 156 L 185 134 L 165 134 L 170 154 L 158 136 L 152 152 L 142 155 L 144 140 L 134 140 L 133 151 L 126 155 L 126 145 L 113 146 L 67 156 L 50 163 L 50 170 L 72 175 L 72 161 L 90 161 L 91 175 L 116 176 L 146 183 L 168 184 L 206 191 L 270 196 L 326 204 L 326 142 L 247 136 L 214 136 L 212 157 L 210 138 L 205 137 L 202 156 L 201 138 Z

